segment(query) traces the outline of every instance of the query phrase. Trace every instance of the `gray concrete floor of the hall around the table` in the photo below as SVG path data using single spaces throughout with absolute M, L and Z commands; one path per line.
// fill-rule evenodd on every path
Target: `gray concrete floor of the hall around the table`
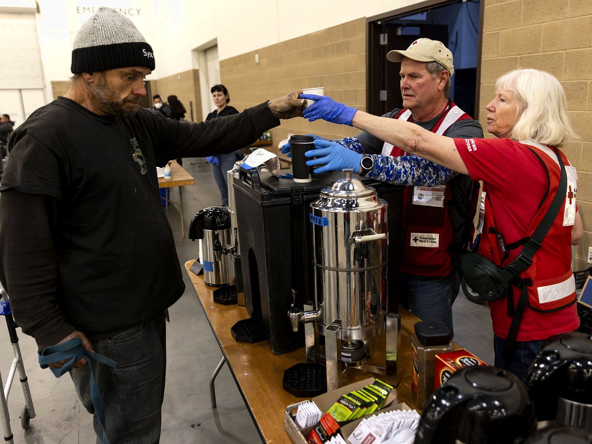
M 198 210 L 220 204 L 220 195 L 210 166 L 201 159 L 185 159 L 184 168 L 195 177 L 196 185 L 183 187 L 185 227 Z M 178 188 L 171 198 L 178 198 Z M 198 256 L 198 243 L 181 237 L 178 208 L 169 208 L 169 221 L 175 233 L 179 261 L 184 266 Z M 208 383 L 221 353 L 184 273 L 186 290 L 170 311 L 168 333 L 168 372 L 163 404 L 162 435 L 165 444 L 257 443 L 259 434 L 253 424 L 229 369 L 224 366 L 216 379 L 217 408 L 210 406 Z M 474 304 L 461 294 L 453 306 L 455 340 L 493 365 L 493 333 L 489 310 Z M 6 384 L 14 353 L 4 320 L 0 323 L 0 373 Z M 20 423 L 24 398 L 18 375 L 8 397 L 11 429 L 15 444 L 78 444 L 95 442 L 92 417 L 76 396 L 69 377 L 55 378 L 49 369 L 37 363 L 33 338 L 20 332 L 19 345 L 27 371 L 36 417 L 28 430 Z M 282 390 L 278 387 L 277 390 Z

